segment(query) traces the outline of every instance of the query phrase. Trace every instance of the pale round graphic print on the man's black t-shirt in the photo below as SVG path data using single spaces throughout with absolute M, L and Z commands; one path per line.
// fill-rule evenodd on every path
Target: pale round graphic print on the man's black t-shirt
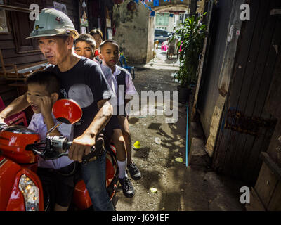
M 94 101 L 93 93 L 86 84 L 74 84 L 68 90 L 68 98 L 76 101 L 81 108 L 86 108 Z

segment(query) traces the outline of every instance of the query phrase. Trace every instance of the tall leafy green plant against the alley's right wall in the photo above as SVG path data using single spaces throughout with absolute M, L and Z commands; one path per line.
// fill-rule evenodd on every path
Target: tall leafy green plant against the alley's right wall
M 178 100 L 185 103 L 190 94 L 191 87 L 197 82 L 197 68 L 199 56 L 202 52 L 206 25 L 201 22 L 202 16 L 198 18 L 194 15 L 186 18 L 183 27 L 176 30 L 172 39 L 180 37 L 177 45 L 179 52 L 180 69 L 176 72 L 175 78 L 178 79 Z

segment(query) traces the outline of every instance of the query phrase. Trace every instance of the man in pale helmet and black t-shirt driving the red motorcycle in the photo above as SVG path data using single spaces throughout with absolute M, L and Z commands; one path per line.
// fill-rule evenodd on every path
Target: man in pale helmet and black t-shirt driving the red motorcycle
M 113 108 L 108 99 L 115 94 L 107 84 L 100 66 L 74 53 L 72 46 L 77 37 L 79 34 L 67 15 L 54 8 L 44 8 L 27 38 L 38 40 L 41 52 L 51 63 L 46 70 L 60 77 L 61 97 L 74 99 L 83 110 L 81 120 L 74 126 L 74 140 L 69 150 L 69 158 L 81 162 L 82 156 L 90 153 L 100 131 L 110 120 Z M 0 122 L 27 106 L 25 95 L 16 98 L 0 113 Z M 81 172 L 94 210 L 114 210 L 105 186 L 105 153 L 81 165 Z

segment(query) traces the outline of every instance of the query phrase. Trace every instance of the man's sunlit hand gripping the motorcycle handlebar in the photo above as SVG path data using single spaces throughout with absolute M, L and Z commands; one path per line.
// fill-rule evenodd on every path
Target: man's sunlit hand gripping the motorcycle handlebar
M 70 146 L 70 150 L 68 151 L 68 158 L 82 162 L 83 155 L 88 155 L 95 144 L 95 137 L 90 134 L 82 134 L 72 141 L 72 146 Z

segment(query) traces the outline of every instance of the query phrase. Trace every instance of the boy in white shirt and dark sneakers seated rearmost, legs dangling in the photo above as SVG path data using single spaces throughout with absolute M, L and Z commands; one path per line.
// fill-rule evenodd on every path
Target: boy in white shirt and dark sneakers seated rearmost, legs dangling
M 123 173 L 119 174 L 119 181 L 122 184 L 122 187 L 124 186 L 125 189 L 133 190 L 133 186 L 131 184 L 131 181 L 127 178 L 126 174 L 126 167 L 129 169 L 129 173 L 131 174 L 131 177 L 133 179 L 141 179 L 141 172 L 139 171 L 138 167 L 136 167 L 136 164 L 133 163 L 131 158 L 131 134 L 129 131 L 129 121 L 128 117 L 129 115 L 126 115 L 125 111 L 125 105 L 129 103 L 130 100 L 124 99 L 125 95 L 133 96 L 133 94 L 136 94 L 135 86 L 133 85 L 131 74 L 124 70 L 123 68 L 120 68 L 117 63 L 119 61 L 119 46 L 118 44 L 113 40 L 106 40 L 103 41 L 100 44 L 100 53 L 99 57 L 101 60 L 103 60 L 103 64 L 101 65 L 101 68 L 105 74 L 105 77 L 107 78 L 107 82 L 112 85 L 112 90 L 115 91 L 115 94 L 117 97 L 117 118 L 119 120 L 119 124 L 122 129 L 122 134 L 124 136 L 124 140 L 126 143 L 126 153 L 127 155 L 124 155 L 124 158 L 122 158 L 122 161 L 118 162 L 119 169 L 120 167 L 123 169 Z M 110 68 L 110 75 L 107 75 L 105 71 L 108 71 L 107 69 Z M 120 82 L 119 82 L 120 81 Z M 123 96 L 119 95 L 119 85 L 124 85 L 124 94 Z M 119 108 L 122 108 L 123 114 L 121 113 L 119 115 Z M 113 131 L 113 137 L 118 138 L 118 133 Z M 126 158 L 127 156 L 127 158 Z M 126 166 L 127 164 L 127 166 Z M 123 188 L 123 192 L 124 192 Z

